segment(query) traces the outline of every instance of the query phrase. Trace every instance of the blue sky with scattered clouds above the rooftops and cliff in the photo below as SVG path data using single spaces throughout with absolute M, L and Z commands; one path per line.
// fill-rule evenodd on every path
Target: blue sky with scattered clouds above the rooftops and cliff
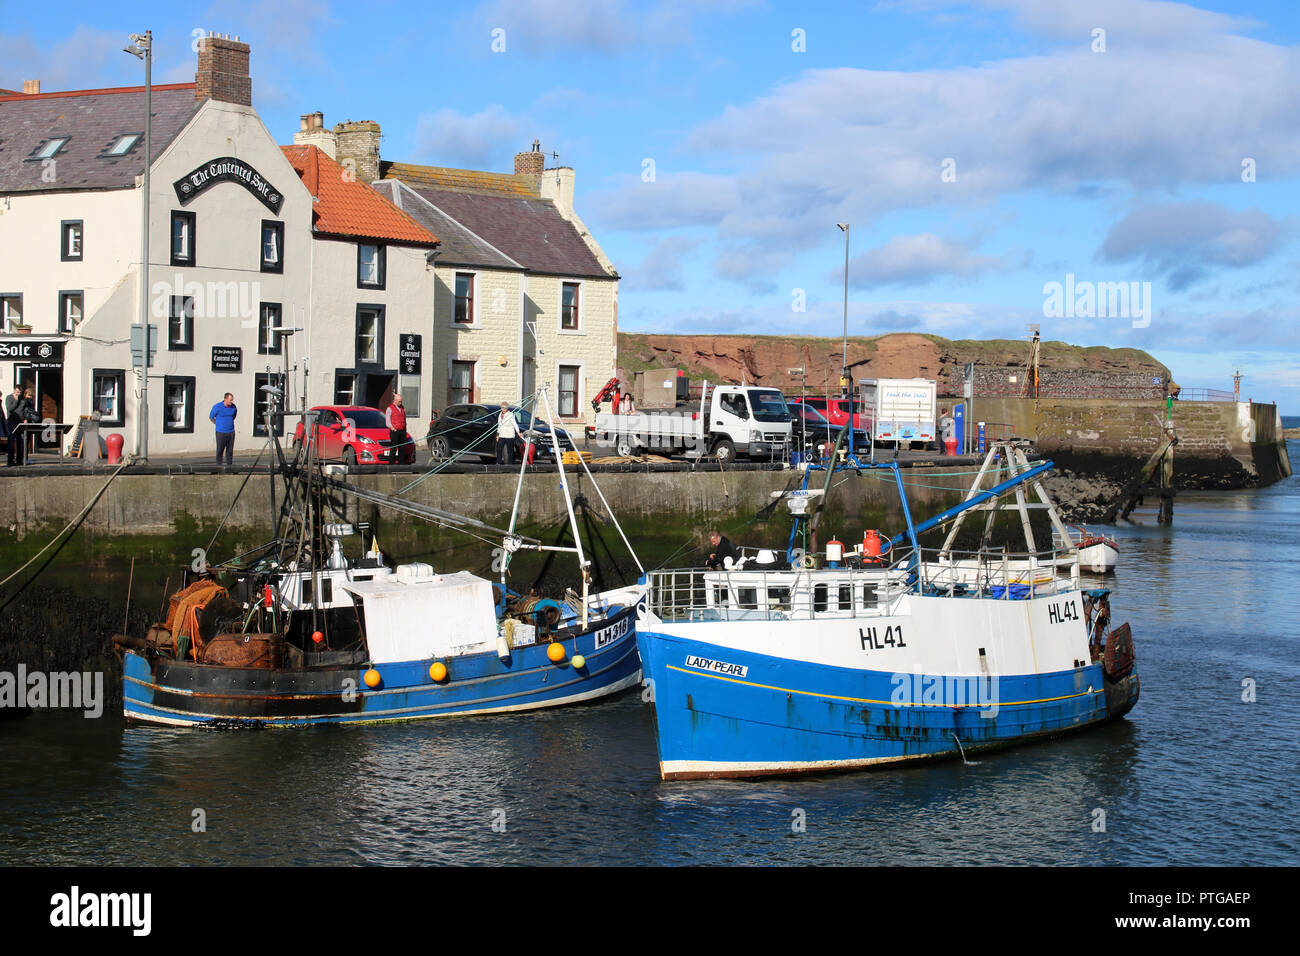
M 0 87 L 194 78 L 374 120 L 384 159 L 510 172 L 540 139 L 629 332 L 1132 346 L 1300 414 L 1294 0 L 18 4 Z

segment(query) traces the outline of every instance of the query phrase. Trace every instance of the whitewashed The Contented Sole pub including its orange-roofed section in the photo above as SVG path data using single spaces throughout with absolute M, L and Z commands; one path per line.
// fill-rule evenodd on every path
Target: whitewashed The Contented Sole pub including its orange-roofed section
M 436 237 L 328 156 L 281 148 L 237 39 L 203 40 L 195 83 L 152 96 L 150 454 L 213 451 L 226 392 L 235 449 L 261 447 L 261 386 L 308 355 L 309 405 L 381 405 L 400 386 L 426 411 L 428 363 L 399 382 L 398 352 L 402 333 L 432 330 Z M 127 450 L 143 113 L 142 87 L 0 96 L 0 388 L 32 384 L 53 421 L 99 412 Z

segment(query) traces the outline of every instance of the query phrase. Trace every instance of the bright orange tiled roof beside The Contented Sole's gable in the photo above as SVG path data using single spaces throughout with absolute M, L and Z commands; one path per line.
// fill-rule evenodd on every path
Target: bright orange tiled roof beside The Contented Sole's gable
M 355 177 L 315 146 L 282 146 L 298 172 L 312 204 L 312 230 L 329 235 L 387 239 L 412 246 L 433 246 L 437 237 L 402 209 Z

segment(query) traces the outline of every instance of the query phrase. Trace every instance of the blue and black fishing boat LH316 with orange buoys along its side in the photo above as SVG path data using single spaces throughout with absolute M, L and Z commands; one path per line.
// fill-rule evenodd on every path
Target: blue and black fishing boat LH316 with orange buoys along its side
M 541 399 L 549 410 L 545 389 Z M 272 441 L 280 462 L 273 499 L 277 475 L 282 489 L 273 541 L 183 583 L 170 596 L 165 619 L 146 635 L 114 637 L 129 721 L 386 723 L 552 708 L 640 683 L 634 630 L 644 591 L 589 587 L 592 562 L 558 447 L 554 463 L 572 546 L 517 533 L 526 460 L 510 527 L 494 528 L 350 484 L 346 467 L 316 460 L 311 442 L 286 460 L 278 440 Z M 592 486 L 608 509 L 594 479 Z M 389 567 L 373 541 L 361 558 L 347 558 L 342 541 L 354 527 L 341 520 L 339 507 L 347 497 L 480 538 L 497 536 L 500 580 L 420 562 Z M 612 511 L 610 516 L 619 527 Z M 627 544 L 621 527 L 619 535 Z M 528 549 L 575 554 L 578 587 L 555 597 L 508 587 L 514 555 Z M 634 551 L 632 558 L 640 568 Z

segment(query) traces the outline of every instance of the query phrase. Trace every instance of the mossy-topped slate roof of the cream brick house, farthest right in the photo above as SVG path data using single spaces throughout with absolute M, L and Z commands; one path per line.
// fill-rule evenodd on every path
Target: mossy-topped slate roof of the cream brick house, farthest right
M 573 224 L 542 199 L 536 176 L 381 163 L 445 215 L 529 272 L 611 278 Z

